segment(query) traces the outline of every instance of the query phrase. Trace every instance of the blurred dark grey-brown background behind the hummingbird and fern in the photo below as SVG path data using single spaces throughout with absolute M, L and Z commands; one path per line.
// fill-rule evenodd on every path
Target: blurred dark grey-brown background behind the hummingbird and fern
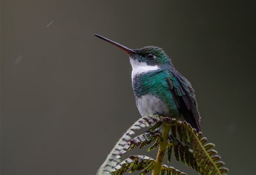
M 128 56 L 93 33 L 162 47 L 230 174 L 253 174 L 255 31 L 251 1 L 2 0 L 1 174 L 95 174 L 140 118 Z

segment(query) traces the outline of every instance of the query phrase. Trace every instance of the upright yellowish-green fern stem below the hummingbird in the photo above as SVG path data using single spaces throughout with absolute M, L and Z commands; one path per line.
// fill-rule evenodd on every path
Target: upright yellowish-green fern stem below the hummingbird
M 160 174 L 161 166 L 163 164 L 164 153 L 166 150 L 166 146 L 168 145 L 168 135 L 170 132 L 170 128 L 171 128 L 171 123 L 168 121 L 163 121 L 162 141 L 160 143 L 160 146 L 157 152 L 157 158 L 156 158 L 152 175 Z

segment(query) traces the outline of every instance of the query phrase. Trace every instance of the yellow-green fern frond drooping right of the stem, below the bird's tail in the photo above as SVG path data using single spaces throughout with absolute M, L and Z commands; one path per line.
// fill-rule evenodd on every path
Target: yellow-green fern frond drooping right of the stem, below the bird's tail
M 207 143 L 206 137 L 202 137 L 201 132 L 197 133 L 186 121 L 177 121 L 176 119 L 172 119 L 171 128 L 172 137 L 192 148 L 183 146 L 179 142 L 174 144 L 174 155 L 177 160 L 193 167 L 200 174 L 225 174 L 228 172 L 228 169 L 223 167 L 224 162 L 220 161 L 217 151 L 212 149 L 214 144 Z

